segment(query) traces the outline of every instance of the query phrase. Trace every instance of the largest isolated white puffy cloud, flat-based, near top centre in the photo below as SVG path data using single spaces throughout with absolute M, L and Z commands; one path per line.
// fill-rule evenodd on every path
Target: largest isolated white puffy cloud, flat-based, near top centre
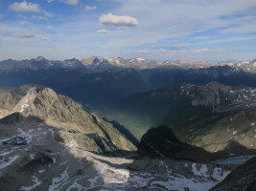
M 131 16 L 119 16 L 112 13 L 103 14 L 99 21 L 105 26 L 135 27 L 139 25 L 136 18 Z

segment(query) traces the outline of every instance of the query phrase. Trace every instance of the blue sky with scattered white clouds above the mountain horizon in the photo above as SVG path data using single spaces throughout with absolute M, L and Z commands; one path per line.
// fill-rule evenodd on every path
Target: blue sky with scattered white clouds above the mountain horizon
M 0 60 L 256 58 L 255 0 L 0 0 Z

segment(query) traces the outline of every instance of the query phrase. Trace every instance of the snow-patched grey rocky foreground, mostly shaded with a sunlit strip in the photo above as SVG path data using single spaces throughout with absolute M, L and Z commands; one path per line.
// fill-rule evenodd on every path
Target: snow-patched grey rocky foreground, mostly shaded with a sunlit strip
M 209 190 L 234 166 L 106 157 L 58 140 L 43 123 L 0 124 L 3 190 Z

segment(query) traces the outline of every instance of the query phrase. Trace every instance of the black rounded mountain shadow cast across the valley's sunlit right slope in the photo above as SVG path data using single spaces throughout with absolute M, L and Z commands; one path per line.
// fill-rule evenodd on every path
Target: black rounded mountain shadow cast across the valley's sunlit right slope
M 139 157 L 188 159 L 200 162 L 255 154 L 256 150 L 247 149 L 235 140 L 229 140 L 223 150 L 210 153 L 203 148 L 181 142 L 168 126 L 151 128 L 138 145 Z

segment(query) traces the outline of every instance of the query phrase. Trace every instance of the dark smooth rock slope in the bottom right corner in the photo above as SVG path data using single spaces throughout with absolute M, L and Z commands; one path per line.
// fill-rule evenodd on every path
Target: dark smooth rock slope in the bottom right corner
M 256 158 L 250 159 L 235 169 L 212 191 L 253 191 L 256 190 Z

